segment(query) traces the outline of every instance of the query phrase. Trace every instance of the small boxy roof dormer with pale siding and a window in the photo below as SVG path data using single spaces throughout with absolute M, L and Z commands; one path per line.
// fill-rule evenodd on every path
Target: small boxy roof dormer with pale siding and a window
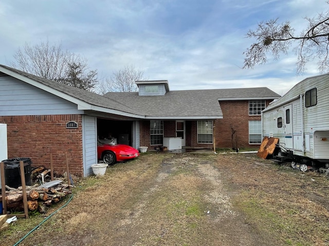
M 135 81 L 140 96 L 163 96 L 169 91 L 168 80 Z

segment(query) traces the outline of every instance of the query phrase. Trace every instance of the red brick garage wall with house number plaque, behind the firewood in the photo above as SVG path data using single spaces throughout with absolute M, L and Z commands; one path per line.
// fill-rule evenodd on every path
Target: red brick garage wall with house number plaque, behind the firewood
M 77 129 L 67 129 L 66 122 L 77 121 Z M 55 173 L 66 172 L 66 153 L 69 172 L 83 176 L 82 117 L 81 115 L 0 116 L 7 124 L 8 158 L 29 157 L 32 167 L 50 169 L 52 153 Z

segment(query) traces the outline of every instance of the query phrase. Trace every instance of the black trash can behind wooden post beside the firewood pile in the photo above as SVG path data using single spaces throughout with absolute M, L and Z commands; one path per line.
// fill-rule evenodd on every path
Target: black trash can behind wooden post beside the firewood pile
M 20 161 L 23 161 L 24 163 L 25 184 L 27 186 L 30 186 L 32 183 L 31 180 L 32 161 L 30 158 L 16 157 L 12 159 L 7 159 L 7 160 L 3 160 L 4 168 L 5 168 L 5 180 L 6 180 L 6 185 L 11 188 L 18 188 L 22 186 Z

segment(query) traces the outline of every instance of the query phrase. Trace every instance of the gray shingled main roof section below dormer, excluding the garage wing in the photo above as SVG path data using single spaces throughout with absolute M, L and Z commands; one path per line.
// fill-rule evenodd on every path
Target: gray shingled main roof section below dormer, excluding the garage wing
M 121 103 L 143 111 L 147 118 L 222 118 L 220 100 L 275 99 L 280 95 L 266 87 L 169 91 L 163 96 L 139 96 L 138 92 L 108 92 Z

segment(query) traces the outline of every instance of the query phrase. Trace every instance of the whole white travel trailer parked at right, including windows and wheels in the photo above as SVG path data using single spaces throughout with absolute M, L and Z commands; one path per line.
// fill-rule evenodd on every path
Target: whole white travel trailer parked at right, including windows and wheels
M 293 159 L 291 166 L 328 168 L 329 73 L 305 78 L 264 109 L 262 132 L 279 138 L 275 155 Z

